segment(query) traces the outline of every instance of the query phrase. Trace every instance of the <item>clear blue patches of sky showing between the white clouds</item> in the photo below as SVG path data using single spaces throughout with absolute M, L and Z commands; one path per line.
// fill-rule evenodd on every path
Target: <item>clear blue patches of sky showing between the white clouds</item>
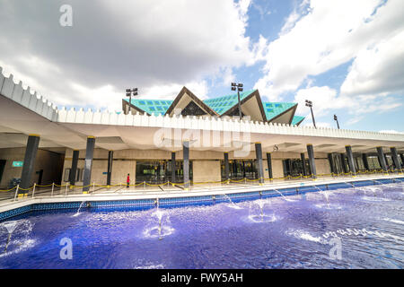
M 286 1 L 253 1 L 250 4 L 250 9 L 248 11 L 248 22 L 246 27 L 246 35 L 250 37 L 253 42 L 257 42 L 259 37 L 265 37 L 268 42 L 272 42 L 279 38 L 279 33 L 285 25 L 287 18 L 291 13 L 294 13 L 297 7 L 302 4 L 302 1 L 296 0 L 286 0 Z M 386 4 L 387 1 L 382 1 L 377 4 L 375 7 L 381 7 Z M 376 9 L 374 10 L 376 11 Z M 371 13 L 374 14 L 375 12 Z M 304 13 L 303 13 L 304 14 Z M 401 26 L 401 31 L 403 27 Z M 307 83 L 310 81 L 312 86 L 324 87 L 327 86 L 335 91 L 337 94 L 340 93 L 340 87 L 345 82 L 347 78 L 347 74 L 349 72 L 349 68 L 353 65 L 355 57 L 351 57 L 347 59 L 346 62 L 341 63 L 340 65 L 335 65 L 330 67 L 325 72 L 321 74 L 311 74 L 307 76 L 306 81 L 297 88 L 296 90 L 303 89 Z M 263 66 L 266 65 L 265 62 L 259 61 L 255 65 L 251 66 L 242 66 L 241 68 L 234 69 L 234 79 L 236 81 L 244 83 L 246 87 L 254 87 L 260 77 L 262 77 Z M 401 74 L 402 76 L 402 74 Z M 402 87 L 401 87 L 402 88 Z M 281 98 L 283 101 L 295 101 L 294 91 L 287 91 L 283 94 Z M 215 91 L 209 92 L 209 97 L 215 96 L 215 92 L 219 91 L 219 93 L 225 93 L 226 87 L 215 89 Z M 382 101 L 383 98 L 386 98 L 385 95 L 376 97 L 379 101 Z M 355 113 L 347 109 L 347 107 L 342 106 L 338 109 L 326 109 L 324 113 L 320 113 L 315 118 L 317 123 L 321 126 L 330 126 L 336 127 L 336 122 L 333 120 L 333 115 L 338 115 L 339 125 L 342 128 L 347 129 L 358 129 L 358 130 L 370 130 L 370 131 L 382 131 L 382 130 L 393 130 L 403 132 L 403 124 L 404 119 L 402 118 L 402 114 L 404 112 L 404 99 L 403 99 L 403 91 L 395 91 L 389 93 L 389 97 L 396 105 L 395 108 L 389 109 L 386 107 L 381 110 L 372 110 L 369 112 L 364 111 L 359 116 L 356 116 Z M 356 101 L 355 97 L 351 99 L 353 102 Z M 369 100 L 371 102 L 372 100 Z M 316 106 L 316 101 L 313 100 L 314 107 Z M 347 105 L 349 105 L 349 101 L 347 101 Z M 312 117 L 309 115 L 309 108 L 299 110 L 299 114 L 302 116 L 306 116 L 306 119 L 303 122 L 303 125 L 311 125 Z

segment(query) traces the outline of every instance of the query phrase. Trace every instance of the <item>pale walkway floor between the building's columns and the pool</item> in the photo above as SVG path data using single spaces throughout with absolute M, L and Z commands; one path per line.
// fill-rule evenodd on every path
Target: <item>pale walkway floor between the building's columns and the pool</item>
M 220 195 L 229 193 L 242 193 L 249 191 L 259 191 L 286 187 L 302 187 L 343 183 L 357 180 L 371 180 L 381 178 L 404 178 L 404 175 L 361 175 L 356 177 L 337 177 L 337 178 L 311 178 L 293 179 L 293 180 L 274 180 L 259 185 L 257 182 L 240 182 L 230 184 L 210 184 L 210 185 L 193 185 L 189 191 L 184 191 L 182 187 L 177 186 L 139 186 L 139 187 L 92 187 L 88 194 L 83 194 L 81 188 L 54 189 L 51 187 L 38 188 L 34 193 L 30 191 L 27 196 L 19 198 L 15 197 L 13 192 L 0 194 L 0 212 L 10 210 L 19 206 L 35 203 L 51 203 L 51 202 L 72 202 L 72 201 L 95 201 L 95 200 L 125 200 L 125 199 L 141 199 L 141 198 L 162 198 L 162 197 L 179 197 L 179 196 L 207 196 Z M 404 179 L 403 179 L 404 180 Z

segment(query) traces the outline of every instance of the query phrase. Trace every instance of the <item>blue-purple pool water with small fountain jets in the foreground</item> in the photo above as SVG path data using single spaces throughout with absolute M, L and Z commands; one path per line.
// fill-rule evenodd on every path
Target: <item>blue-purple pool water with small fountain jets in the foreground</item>
M 0 223 L 0 267 L 403 268 L 404 186 L 26 213 Z

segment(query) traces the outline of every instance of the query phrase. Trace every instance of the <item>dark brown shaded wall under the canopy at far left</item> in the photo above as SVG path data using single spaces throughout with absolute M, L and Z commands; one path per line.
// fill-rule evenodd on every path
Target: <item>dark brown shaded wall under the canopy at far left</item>
M 25 148 L 0 149 L 0 160 L 5 160 L 3 177 L 0 187 L 8 187 L 10 180 L 21 178 L 22 168 L 14 168 L 13 161 L 24 161 Z M 43 170 L 41 185 L 48 185 L 52 182 L 60 184 L 64 155 L 57 152 L 48 152 L 39 149 L 35 159 L 34 171 L 30 186 L 38 183 L 39 175 L 36 171 Z

